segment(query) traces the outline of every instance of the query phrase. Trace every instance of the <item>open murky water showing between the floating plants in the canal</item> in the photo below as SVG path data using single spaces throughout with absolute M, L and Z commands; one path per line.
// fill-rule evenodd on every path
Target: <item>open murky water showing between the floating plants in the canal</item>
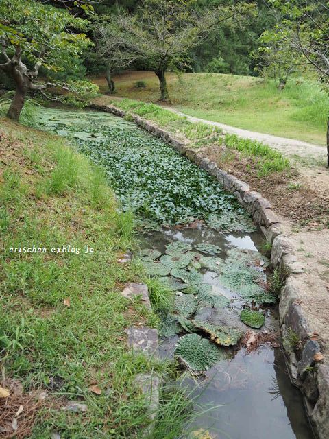
M 113 126 L 122 130 L 136 130 L 131 123 L 103 112 L 63 111 L 56 108 L 40 112 L 41 128 L 63 136 L 69 135 L 80 144 L 93 142 L 97 155 L 97 140 L 104 141 L 104 134 L 88 130 L 94 121 L 107 128 Z M 145 136 L 148 135 L 145 133 Z M 190 244 L 194 249 L 198 244 L 215 244 L 220 248 L 217 258 L 223 263 L 230 250 L 257 252 L 263 243 L 263 237 L 258 232 L 221 232 L 202 223 L 194 228 L 171 227 L 143 232 L 141 239 L 145 248 L 154 248 L 162 254 L 167 244 L 175 241 Z M 228 299 L 226 312 L 232 316 L 234 323 L 241 307 L 245 305 L 243 298 L 221 285 L 217 272 L 206 268 L 201 272 L 203 283 L 212 285 L 213 292 Z M 266 319 L 260 331 L 278 331 L 276 306 L 263 306 L 261 311 Z M 172 357 L 175 342 L 182 335 L 184 333 L 162 339 L 160 355 Z M 184 385 L 195 389 L 198 403 L 216 407 L 197 418 L 197 427 L 208 429 L 212 437 L 217 439 L 313 438 L 301 394 L 291 385 L 280 347 L 272 348 L 264 344 L 252 353 L 247 353 L 245 348 L 220 349 L 222 359 L 210 370 L 193 379 L 184 376 Z

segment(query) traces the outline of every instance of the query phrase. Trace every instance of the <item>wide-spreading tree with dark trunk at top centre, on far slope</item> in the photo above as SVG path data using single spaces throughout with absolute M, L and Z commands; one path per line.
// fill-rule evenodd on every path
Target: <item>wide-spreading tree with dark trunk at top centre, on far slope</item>
M 254 10 L 239 5 L 199 10 L 196 0 L 143 0 L 136 14 L 119 13 L 112 38 L 147 60 L 160 84 L 160 100 L 169 99 L 165 73 L 186 67 L 193 47 L 221 23 Z

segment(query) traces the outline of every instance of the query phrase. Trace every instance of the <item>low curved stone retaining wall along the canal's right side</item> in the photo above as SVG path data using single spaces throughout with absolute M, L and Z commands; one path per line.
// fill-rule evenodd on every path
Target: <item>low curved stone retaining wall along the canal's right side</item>
M 92 108 L 125 117 L 127 112 L 114 106 L 90 104 Z M 250 191 L 247 183 L 222 171 L 215 162 L 201 152 L 188 147 L 172 134 L 145 119 L 131 115 L 137 126 L 160 137 L 197 166 L 214 176 L 226 191 L 233 193 L 244 209 L 260 227 L 265 239 L 272 245 L 271 265 L 278 269 L 284 287 L 279 304 L 280 330 L 293 384 L 302 390 L 308 416 L 319 439 L 329 438 L 329 366 L 321 363 L 323 355 L 318 334 L 312 333 L 303 313 L 300 297 L 299 274 L 303 267 L 293 254 L 293 242 L 284 235 L 280 219 L 271 210 L 271 204 L 260 193 Z M 293 339 L 293 342 L 292 342 Z M 297 342 L 296 342 L 297 340 Z

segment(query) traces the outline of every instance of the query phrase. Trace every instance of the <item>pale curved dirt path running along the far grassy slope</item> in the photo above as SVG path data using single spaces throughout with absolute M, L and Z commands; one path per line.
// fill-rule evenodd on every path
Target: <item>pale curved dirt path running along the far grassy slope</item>
M 295 139 L 287 139 L 285 137 L 273 136 L 272 134 L 264 134 L 261 132 L 254 132 L 249 130 L 243 130 L 242 128 L 236 128 L 234 126 L 225 125 L 224 123 L 208 121 L 206 119 L 199 119 L 199 117 L 188 116 L 184 112 L 180 112 L 173 107 L 163 106 L 166 110 L 175 112 L 177 115 L 184 116 L 188 121 L 191 122 L 203 122 L 208 123 L 208 125 L 218 126 L 222 128 L 223 131 L 229 134 L 237 134 L 243 139 L 252 139 L 259 142 L 266 143 L 267 145 L 275 148 L 282 152 L 282 154 L 287 156 L 300 156 L 304 158 L 315 158 L 321 160 L 326 159 L 326 147 L 320 145 L 313 145 L 312 143 L 307 143 Z

